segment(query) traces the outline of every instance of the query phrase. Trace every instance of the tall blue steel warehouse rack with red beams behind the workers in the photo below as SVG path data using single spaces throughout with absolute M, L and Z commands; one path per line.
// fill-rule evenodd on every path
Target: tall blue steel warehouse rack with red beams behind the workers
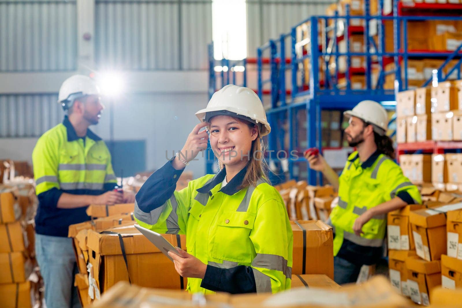
M 378 12 L 382 12 L 383 0 L 378 1 Z M 301 154 L 306 147 L 322 148 L 322 129 L 321 112 L 322 110 L 346 110 L 353 108 L 362 100 L 370 99 L 383 104 L 386 109 L 395 110 L 395 94 L 397 91 L 407 90 L 408 72 L 407 64 L 413 58 L 444 58 L 444 63 L 438 68 L 432 79 L 422 82 L 422 86 L 429 85 L 432 81 L 438 82 L 445 80 L 452 72 L 457 73 L 460 79 L 461 49 L 462 45 L 452 51 L 435 52 L 429 50 L 409 50 L 407 46 L 407 30 L 409 21 L 414 20 L 461 20 L 456 16 L 429 16 L 437 12 L 445 14 L 446 9 L 462 13 L 462 5 L 447 6 L 441 4 L 415 4 L 410 7 L 401 1 L 395 1 L 393 13 L 387 16 L 369 15 L 369 1 L 365 1 L 364 16 L 350 15 L 349 7 L 346 12 L 339 16 L 338 12 L 334 16 L 313 16 L 298 24 L 295 24 L 291 31 L 280 35 L 275 40 L 270 40 L 263 46 L 257 48 L 257 85 L 255 91 L 258 95 L 269 96 L 270 108 L 267 109 L 268 120 L 270 121 L 273 133 L 267 139 L 268 150 L 285 151 L 286 157 L 292 157 L 291 153 Z M 437 10 L 437 11 L 435 11 Z M 439 10 L 439 11 L 438 11 Z M 364 20 L 363 26 L 352 25 L 351 21 Z M 384 23 L 387 20 L 393 22 L 394 28 L 394 50 L 386 52 Z M 371 27 L 375 21 L 377 26 Z M 330 24 L 330 25 L 329 25 Z M 304 27 L 301 27 L 301 26 Z M 377 42 L 372 38 L 372 30 L 375 32 L 377 27 Z M 300 30 L 301 29 L 301 30 Z M 365 50 L 362 52 L 351 52 L 350 36 L 355 32 L 364 33 Z M 302 39 L 300 39 L 300 37 Z M 346 50 L 341 51 L 339 42 L 345 41 Z M 286 46 L 290 46 L 290 58 L 286 57 Z M 210 54 L 212 52 L 212 54 Z M 351 67 L 352 57 L 364 57 L 365 67 L 362 69 Z M 210 95 L 216 90 L 216 66 L 213 60 L 213 49 L 209 51 L 211 83 L 209 87 Z M 345 72 L 339 71 L 339 60 L 346 59 Z M 457 59 L 458 62 L 453 67 L 448 67 L 451 60 Z M 233 66 L 244 66 L 255 63 L 255 59 L 243 60 L 243 62 L 228 62 L 220 60 L 220 66 L 227 66 L 229 70 Z M 394 69 L 386 71 L 385 67 L 389 63 L 394 63 Z M 452 63 L 452 62 L 451 62 Z M 267 67 L 264 69 L 264 66 Z M 329 67 L 330 66 L 330 67 Z M 372 67 L 378 67 L 376 72 L 377 80 L 373 80 Z M 444 68 L 447 73 L 444 74 Z M 263 72 L 269 71 L 270 77 L 263 79 Z M 322 72 L 320 77 L 319 72 Z M 246 69 L 244 70 L 245 76 Z M 402 72 L 402 73 L 401 73 Z M 220 72 L 221 83 L 225 85 L 232 83 L 230 72 Z M 233 76 L 235 75 L 235 72 Z M 352 87 L 352 76 L 363 74 L 365 87 L 355 89 Z M 286 75 L 290 74 L 290 82 L 287 82 Z M 384 89 L 386 76 L 395 75 L 395 89 Z M 340 85 L 340 80 L 345 83 Z M 242 79 L 243 85 L 246 84 L 246 77 Z M 289 85 L 287 85 L 289 84 Z M 266 87 L 265 87 L 266 86 Z M 267 89 L 269 86 L 270 90 Z M 300 119 L 298 112 L 305 110 L 306 119 Z M 392 119 L 392 121 L 395 117 Z M 298 120 L 298 121 L 297 121 Z M 302 120 L 302 121 L 300 121 Z M 286 124 L 285 124 L 286 123 Z M 306 146 L 298 143 L 298 128 L 306 126 Z M 285 140 L 286 132 L 289 140 Z M 285 142 L 286 141 L 286 142 Z M 288 142 L 287 142 L 288 141 Z M 305 144 L 304 144 L 305 145 Z M 415 147 L 415 145 L 414 145 Z M 411 146 L 411 148 L 413 148 Z M 275 159 L 276 157 L 271 157 Z M 280 160 L 279 160 L 280 161 Z M 207 172 L 211 172 L 209 167 L 213 164 L 212 160 L 207 163 Z M 288 159 L 287 173 L 290 178 L 298 178 L 294 174 L 297 164 L 305 163 L 303 157 Z M 315 171 L 307 170 L 308 181 L 311 185 L 322 183 L 320 174 Z M 277 179 L 276 179 L 277 181 Z

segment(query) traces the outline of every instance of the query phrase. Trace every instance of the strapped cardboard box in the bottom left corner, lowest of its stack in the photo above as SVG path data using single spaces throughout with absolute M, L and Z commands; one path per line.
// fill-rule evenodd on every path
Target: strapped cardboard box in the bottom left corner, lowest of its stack
M 0 284 L 0 303 L 5 308 L 30 307 L 30 282 Z

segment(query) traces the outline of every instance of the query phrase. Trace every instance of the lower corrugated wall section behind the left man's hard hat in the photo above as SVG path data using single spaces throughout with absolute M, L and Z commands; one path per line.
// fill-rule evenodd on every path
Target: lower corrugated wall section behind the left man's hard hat
M 0 95 L 0 137 L 40 136 L 62 121 L 58 96 Z

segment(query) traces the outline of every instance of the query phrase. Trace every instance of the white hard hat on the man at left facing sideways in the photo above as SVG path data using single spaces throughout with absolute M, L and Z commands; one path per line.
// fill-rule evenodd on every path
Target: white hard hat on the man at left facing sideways
M 73 75 L 64 80 L 59 89 L 58 103 L 63 103 L 75 94 L 79 96 L 99 95 L 100 91 L 96 82 L 85 75 Z

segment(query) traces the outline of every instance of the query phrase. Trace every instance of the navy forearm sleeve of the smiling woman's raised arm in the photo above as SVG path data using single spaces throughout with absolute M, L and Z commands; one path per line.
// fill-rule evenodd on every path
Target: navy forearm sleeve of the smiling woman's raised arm
M 138 208 L 149 213 L 162 206 L 175 192 L 176 182 L 183 170 L 184 168 L 181 170 L 173 168 L 171 160 L 156 170 L 135 196 Z

